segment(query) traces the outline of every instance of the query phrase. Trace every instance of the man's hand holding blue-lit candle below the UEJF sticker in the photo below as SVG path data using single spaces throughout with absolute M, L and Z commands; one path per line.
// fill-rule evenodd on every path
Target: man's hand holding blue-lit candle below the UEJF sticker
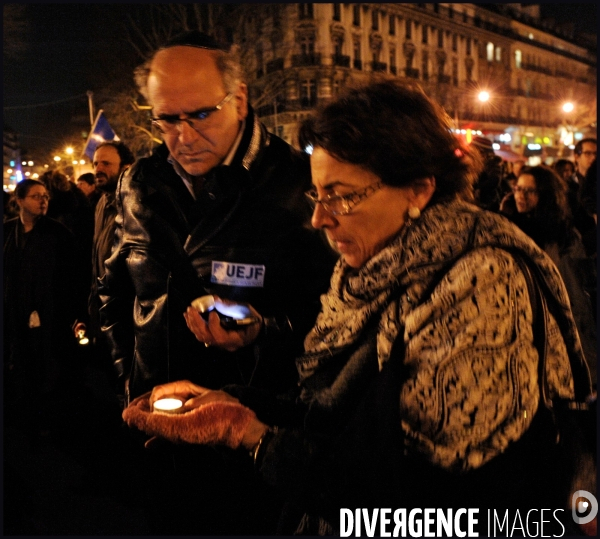
M 223 300 L 217 296 L 214 296 L 214 299 L 217 309 L 219 305 L 235 305 L 235 302 Z M 207 348 L 209 346 L 217 346 L 228 352 L 235 352 L 253 343 L 262 327 L 262 317 L 260 314 L 251 305 L 247 307 L 252 316 L 256 317 L 259 322 L 241 327 L 240 329 L 225 329 L 221 325 L 219 315 L 215 310 L 209 313 L 208 321 L 206 321 L 194 307 L 189 306 L 186 312 L 183 313 L 183 317 L 190 331 L 196 336 L 196 339 L 203 342 Z

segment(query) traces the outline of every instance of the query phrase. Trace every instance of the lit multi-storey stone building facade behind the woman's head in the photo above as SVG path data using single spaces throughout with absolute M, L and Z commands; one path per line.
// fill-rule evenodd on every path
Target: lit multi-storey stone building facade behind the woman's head
M 317 104 L 374 76 L 417 82 L 467 141 L 525 157 L 551 162 L 596 134 L 595 36 L 542 21 L 539 5 L 252 4 L 232 37 L 251 102 L 291 143 Z

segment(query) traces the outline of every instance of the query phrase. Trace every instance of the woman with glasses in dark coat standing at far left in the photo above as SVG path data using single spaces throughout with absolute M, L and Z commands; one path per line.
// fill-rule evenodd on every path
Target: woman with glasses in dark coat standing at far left
M 45 185 L 23 180 L 14 200 L 19 215 L 4 223 L 4 418 L 36 440 L 53 426 L 57 403 L 72 395 L 65 385 L 75 352 L 70 326 L 85 296 L 75 238 L 46 216 Z

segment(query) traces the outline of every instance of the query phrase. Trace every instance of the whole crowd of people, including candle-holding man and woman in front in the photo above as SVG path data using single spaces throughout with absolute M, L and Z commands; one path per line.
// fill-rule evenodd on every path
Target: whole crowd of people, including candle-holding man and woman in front
M 69 428 L 86 335 L 152 535 L 339 535 L 341 508 L 570 517 L 546 398 L 595 401 L 596 140 L 507 166 L 375 79 L 306 118 L 299 151 L 255 115 L 237 52 L 166 42 L 135 74 L 163 143 L 104 142 L 92 177 L 5 204 L 7 425 Z

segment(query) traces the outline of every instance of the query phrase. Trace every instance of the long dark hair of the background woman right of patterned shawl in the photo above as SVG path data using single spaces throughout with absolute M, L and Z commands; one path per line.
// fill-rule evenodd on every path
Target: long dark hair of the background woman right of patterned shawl
M 535 179 L 538 203 L 532 211 L 532 217 L 537 221 L 538 228 L 548 238 L 562 244 L 572 217 L 565 183 L 554 170 L 544 165 L 523 167 L 519 176 L 523 174 L 530 174 Z

